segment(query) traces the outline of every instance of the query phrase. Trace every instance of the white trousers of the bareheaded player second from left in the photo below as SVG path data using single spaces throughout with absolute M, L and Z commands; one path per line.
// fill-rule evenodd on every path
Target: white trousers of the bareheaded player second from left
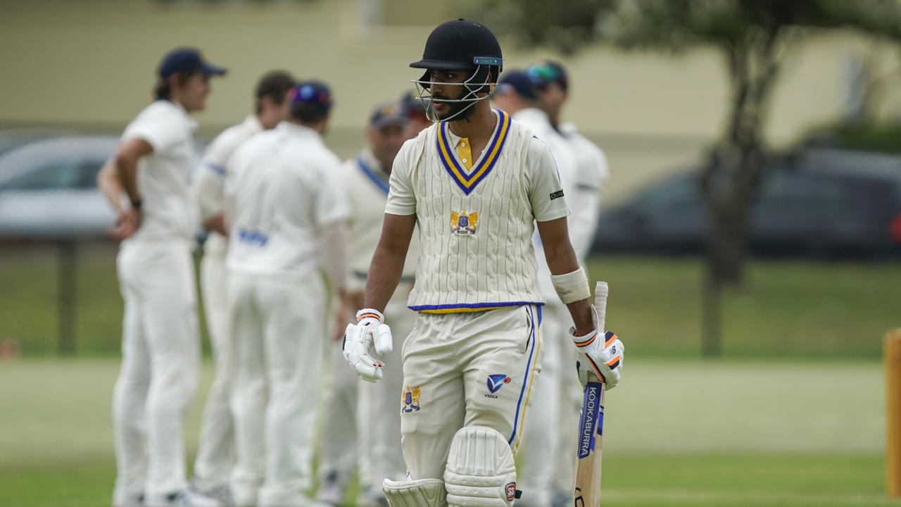
M 226 276 L 225 252 L 204 253 L 200 262 L 200 290 L 216 374 L 206 395 L 200 445 L 194 461 L 194 485 L 200 491 L 228 485 L 234 466 L 234 431 L 229 407 L 232 347 L 228 335 Z

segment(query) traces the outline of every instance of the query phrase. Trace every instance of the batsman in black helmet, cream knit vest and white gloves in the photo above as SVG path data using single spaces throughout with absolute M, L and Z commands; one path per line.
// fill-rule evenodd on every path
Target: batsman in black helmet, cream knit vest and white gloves
M 608 388 L 619 380 L 622 343 L 597 339 L 551 152 L 486 100 L 502 65 L 494 34 L 465 20 L 442 23 L 423 60 L 411 64 L 425 70 L 415 82 L 429 90 L 441 123 L 397 155 L 367 308 L 346 330 L 348 363 L 378 381 L 386 367 L 378 355 L 393 348 L 382 309 L 418 226 L 408 302 L 419 316 L 402 348 L 408 478 L 384 484 L 395 507 L 509 506 L 517 496 L 514 454 L 542 347 L 536 222 L 554 287 L 576 323 L 569 336 Z

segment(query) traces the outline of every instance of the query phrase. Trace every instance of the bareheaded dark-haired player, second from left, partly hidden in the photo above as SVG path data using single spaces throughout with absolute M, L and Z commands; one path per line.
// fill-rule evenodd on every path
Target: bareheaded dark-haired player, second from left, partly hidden
M 223 225 L 225 167 L 241 143 L 287 120 L 290 108 L 286 97 L 294 84 L 294 78 L 281 70 L 269 72 L 259 79 L 254 93 L 254 113 L 240 124 L 225 129 L 210 143 L 194 185 L 200 217 L 208 231 L 204 258 L 200 262 L 200 290 L 204 298 L 206 327 L 213 347 L 216 376 L 206 395 L 192 487 L 220 500 L 230 498 L 228 484 L 234 465 L 234 433 L 232 411 L 229 409 L 231 347 L 227 341 L 228 293 L 225 280 L 228 233 Z

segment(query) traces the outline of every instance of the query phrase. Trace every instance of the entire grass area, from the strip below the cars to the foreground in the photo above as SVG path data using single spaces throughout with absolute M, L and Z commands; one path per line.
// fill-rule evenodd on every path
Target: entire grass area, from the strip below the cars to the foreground
M 0 507 L 103 506 L 122 301 L 109 244 L 79 249 L 75 359 L 56 345 L 54 251 L 0 250 Z M 901 507 L 884 496 L 881 337 L 895 263 L 753 262 L 724 300 L 724 361 L 702 362 L 696 259 L 595 258 L 628 344 L 607 402 L 605 507 Z M 205 364 L 204 387 L 212 378 Z M 203 391 L 189 416 L 196 449 Z M 525 444 L 527 447 L 528 444 Z

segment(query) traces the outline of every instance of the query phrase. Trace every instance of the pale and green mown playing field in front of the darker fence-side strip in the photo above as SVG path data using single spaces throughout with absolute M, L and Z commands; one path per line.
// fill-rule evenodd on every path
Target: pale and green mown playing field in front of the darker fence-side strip
M 0 363 L 0 505 L 108 504 L 117 367 L 114 359 Z M 607 400 L 605 507 L 901 505 L 882 493 L 878 364 L 635 360 L 628 368 Z M 205 386 L 211 373 L 206 364 Z M 190 449 L 199 411 L 196 403 Z

